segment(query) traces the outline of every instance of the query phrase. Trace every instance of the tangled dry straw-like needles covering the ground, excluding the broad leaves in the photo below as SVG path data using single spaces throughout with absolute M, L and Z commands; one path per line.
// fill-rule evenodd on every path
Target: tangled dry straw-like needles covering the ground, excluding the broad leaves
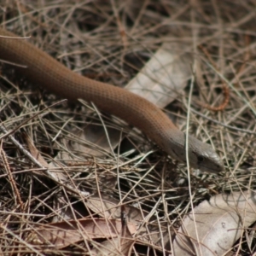
M 73 151 L 80 160 L 66 163 L 62 168 L 73 188 L 133 204 L 141 211 L 148 211 L 152 223 L 174 229 L 190 211 L 191 201 L 196 206 L 218 193 L 255 189 L 255 1 L 17 0 L 2 1 L 1 5 L 1 22 L 6 29 L 20 36 L 31 35 L 32 44 L 74 72 L 109 84 L 127 84 L 163 43 L 179 42 L 185 45 L 181 49 L 194 53 L 195 61 L 203 63 L 200 68 L 204 79 L 197 78 L 192 96 L 189 132 L 204 141 L 212 138 L 212 144 L 224 159 L 223 174 L 193 173 L 188 184 L 188 173 L 183 166 L 166 161 L 161 151 L 149 145 L 138 131 L 128 134 L 130 127 L 108 119 L 107 126 L 120 131 L 125 127 L 125 143 L 107 157 L 93 158 Z M 197 49 L 199 45 L 207 49 L 208 55 Z M 228 106 L 218 113 L 196 103 L 215 106 L 221 103 L 223 95 L 219 89 L 224 79 L 216 68 L 229 81 L 230 90 Z M 35 84 L 20 79 L 6 65 L 0 83 L 2 124 L 7 131 L 14 131 L 12 136 L 27 148 L 25 132 L 47 161 L 60 152 L 68 153 L 63 138 L 72 137 L 71 131 L 81 130 L 91 122 L 101 124 L 90 107 L 61 102 L 48 108 L 60 99 L 44 90 L 35 90 Z M 169 108 L 171 113 L 178 113 L 175 121 L 183 130 L 188 95 L 189 89 Z M 47 109 L 37 115 L 44 108 Z M 53 182 L 45 172 L 43 175 L 35 172 L 40 168 L 17 149 L 10 136 L 0 134 L 3 253 L 21 250 L 25 230 L 33 229 L 35 224 L 49 224 L 56 217 L 62 219 L 67 214 L 63 208 L 67 206 L 73 211 L 66 217 L 90 216 L 83 196 Z M 76 139 L 73 137 L 73 141 Z M 148 148 L 156 150 L 148 154 Z M 189 188 L 193 199 L 189 198 Z M 56 205 L 56 197 L 61 198 L 63 208 Z M 148 222 L 149 219 L 145 224 Z M 237 244 L 234 247 L 236 255 L 252 253 L 255 240 L 251 247 L 246 238 L 240 242 L 239 251 L 236 252 Z M 49 254 L 79 254 L 90 245 L 81 242 L 73 247 L 76 249 L 72 251 L 53 249 Z M 152 247 L 147 253 L 147 245 L 133 250 L 137 255 L 154 253 Z

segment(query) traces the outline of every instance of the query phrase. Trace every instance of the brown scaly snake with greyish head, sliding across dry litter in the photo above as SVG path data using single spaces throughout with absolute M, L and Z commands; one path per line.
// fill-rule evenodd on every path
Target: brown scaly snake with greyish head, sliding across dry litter
M 87 79 L 64 67 L 41 49 L 0 28 L 0 58 L 25 67 L 15 67 L 34 84 L 67 99 L 94 102 L 105 112 L 124 119 L 143 131 L 173 159 L 186 162 L 185 135 L 151 102 L 128 90 Z M 218 173 L 224 170 L 218 154 L 207 143 L 189 137 L 189 166 Z

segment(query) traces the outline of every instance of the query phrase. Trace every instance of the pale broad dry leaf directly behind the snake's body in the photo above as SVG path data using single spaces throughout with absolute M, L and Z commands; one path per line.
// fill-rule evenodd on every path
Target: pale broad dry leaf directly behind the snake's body
M 165 108 L 187 85 L 190 63 L 191 55 L 183 54 L 180 44 L 163 44 L 125 89 Z

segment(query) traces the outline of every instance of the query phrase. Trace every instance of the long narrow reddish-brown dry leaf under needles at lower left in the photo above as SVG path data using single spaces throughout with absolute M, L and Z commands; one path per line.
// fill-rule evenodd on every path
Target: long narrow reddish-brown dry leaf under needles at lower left
M 134 224 L 127 223 L 127 229 L 131 234 L 136 232 Z M 44 246 L 44 249 L 62 248 L 82 240 L 113 238 L 121 234 L 122 223 L 119 219 L 81 218 L 34 228 L 27 241 L 33 245 Z

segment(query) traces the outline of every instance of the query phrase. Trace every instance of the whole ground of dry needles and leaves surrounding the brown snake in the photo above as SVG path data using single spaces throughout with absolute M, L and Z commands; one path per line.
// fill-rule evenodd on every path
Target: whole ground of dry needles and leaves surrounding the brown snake
M 225 165 L 189 173 L 122 120 L 61 102 L 3 64 L 2 254 L 253 254 L 255 1 L 0 3 L 3 27 L 74 72 L 169 104 L 183 131 L 189 108 L 189 133 Z M 228 106 L 202 107 L 221 105 L 224 79 Z

